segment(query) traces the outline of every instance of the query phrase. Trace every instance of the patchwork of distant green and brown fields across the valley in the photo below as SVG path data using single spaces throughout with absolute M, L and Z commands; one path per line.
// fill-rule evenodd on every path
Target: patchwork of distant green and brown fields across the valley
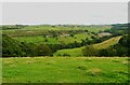
M 10 26 L 9 26 L 10 27 Z M 91 32 L 98 33 L 110 29 L 112 26 L 50 26 L 50 25 L 35 25 L 27 26 L 22 29 L 6 29 L 2 30 L 3 34 L 8 34 L 20 42 L 35 43 L 35 44 L 70 44 L 81 43 L 82 40 L 91 40 L 94 36 Z M 84 32 L 87 30 L 88 32 Z M 73 31 L 73 32 L 70 32 Z M 81 32 L 83 31 L 83 32 Z M 70 33 L 74 36 L 72 37 Z M 53 37 L 53 36 L 57 37 Z M 46 41 L 47 40 L 47 41 Z

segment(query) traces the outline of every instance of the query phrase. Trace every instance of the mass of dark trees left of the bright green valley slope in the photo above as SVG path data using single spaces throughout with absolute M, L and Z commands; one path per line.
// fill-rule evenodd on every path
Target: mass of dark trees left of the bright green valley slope
M 46 44 L 18 42 L 2 36 L 2 57 L 51 56 L 52 49 Z

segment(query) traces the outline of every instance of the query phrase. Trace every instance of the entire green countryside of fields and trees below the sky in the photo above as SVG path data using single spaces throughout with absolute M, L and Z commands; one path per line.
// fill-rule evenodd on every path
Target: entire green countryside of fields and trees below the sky
M 0 28 L 3 83 L 130 82 L 128 24 Z

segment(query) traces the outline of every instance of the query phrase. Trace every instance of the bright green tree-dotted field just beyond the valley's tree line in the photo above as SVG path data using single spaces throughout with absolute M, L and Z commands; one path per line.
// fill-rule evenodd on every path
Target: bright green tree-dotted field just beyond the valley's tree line
M 74 37 L 57 37 L 56 38 L 43 38 L 42 36 L 34 36 L 34 37 L 16 37 L 13 38 L 20 42 L 27 42 L 27 43 L 35 43 L 35 44 L 40 44 L 40 43 L 46 43 L 46 44 L 60 44 L 60 43 L 64 43 L 64 44 L 69 44 L 69 43 L 74 43 L 79 42 L 81 43 L 81 40 L 86 40 L 87 38 L 89 40 L 91 40 L 92 34 L 88 34 L 88 33 L 79 33 L 79 34 L 74 34 Z M 48 40 L 47 42 L 44 40 Z

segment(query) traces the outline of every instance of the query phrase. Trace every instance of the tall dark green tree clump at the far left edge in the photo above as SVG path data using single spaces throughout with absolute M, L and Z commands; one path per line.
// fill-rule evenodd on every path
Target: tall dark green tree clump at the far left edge
M 17 41 L 14 41 L 10 37 L 2 36 L 2 56 L 3 57 L 18 57 L 23 56 L 22 48 Z

